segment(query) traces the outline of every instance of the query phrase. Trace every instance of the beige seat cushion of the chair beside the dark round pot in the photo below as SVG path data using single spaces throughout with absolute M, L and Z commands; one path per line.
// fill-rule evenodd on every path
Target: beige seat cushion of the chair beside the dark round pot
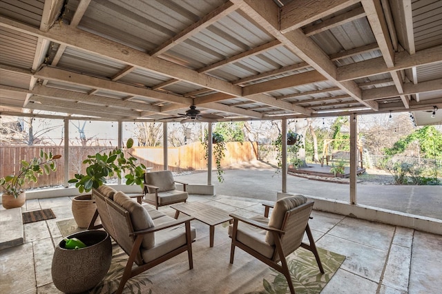
M 196 229 L 191 227 L 191 240 L 193 241 L 195 238 Z M 155 258 L 160 258 L 162 255 L 183 246 L 184 244 L 186 244 L 186 227 L 184 224 L 157 231 L 155 232 L 155 246 L 148 250 L 142 249 L 142 258 L 144 262 L 150 262 L 155 260 Z

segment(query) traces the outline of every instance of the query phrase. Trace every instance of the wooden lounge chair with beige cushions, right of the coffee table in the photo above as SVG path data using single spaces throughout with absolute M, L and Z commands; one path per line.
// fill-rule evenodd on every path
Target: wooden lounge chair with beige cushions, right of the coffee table
M 304 196 L 297 195 L 278 200 L 270 219 L 262 216 L 243 218 L 230 214 L 233 218 L 233 224 L 229 226 L 229 236 L 232 239 L 230 263 L 233 264 L 235 247 L 238 246 L 285 275 L 290 292 L 294 294 L 286 257 L 302 246 L 314 253 L 320 272 L 324 273 L 308 224 L 313 204 L 314 202 L 307 202 Z M 269 207 L 265 211 L 268 214 Z M 302 242 L 304 232 L 307 233 L 310 244 Z

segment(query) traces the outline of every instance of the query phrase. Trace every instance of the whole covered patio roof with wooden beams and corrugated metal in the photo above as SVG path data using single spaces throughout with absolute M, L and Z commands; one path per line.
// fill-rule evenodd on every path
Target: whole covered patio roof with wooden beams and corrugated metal
M 0 114 L 153 122 L 412 112 L 418 125 L 442 121 L 442 1 L 0 7 Z

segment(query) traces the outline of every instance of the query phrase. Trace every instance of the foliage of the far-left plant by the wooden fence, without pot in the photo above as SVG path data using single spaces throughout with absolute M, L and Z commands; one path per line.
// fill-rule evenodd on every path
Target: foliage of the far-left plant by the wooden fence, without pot
M 56 159 L 61 155 L 53 155 L 52 152 L 40 150 L 40 156 L 31 160 L 21 160 L 20 169 L 17 174 L 11 174 L 0 178 L 0 186 L 10 194 L 17 198 L 23 192 L 22 186 L 26 182 L 37 182 L 37 178 L 42 174 L 50 174 L 51 171 L 57 170 Z

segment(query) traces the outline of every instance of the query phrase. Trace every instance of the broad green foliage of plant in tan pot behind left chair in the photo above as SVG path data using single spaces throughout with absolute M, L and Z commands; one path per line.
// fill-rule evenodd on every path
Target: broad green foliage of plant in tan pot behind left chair
M 122 174 L 126 174 L 126 185 L 139 185 L 143 187 L 144 172 L 146 166 L 137 162 L 137 158 L 133 157 L 127 149 L 133 146 L 133 139 L 129 138 L 126 142 L 126 148 L 115 148 L 111 151 L 100 151 L 95 155 L 89 155 L 83 160 L 86 167 L 86 174 L 75 174 L 75 178 L 68 182 L 75 183 L 80 193 L 88 192 L 92 188 L 98 188 L 106 183 L 107 178 L 117 176 L 122 178 Z M 126 156 L 128 155 L 128 156 Z

